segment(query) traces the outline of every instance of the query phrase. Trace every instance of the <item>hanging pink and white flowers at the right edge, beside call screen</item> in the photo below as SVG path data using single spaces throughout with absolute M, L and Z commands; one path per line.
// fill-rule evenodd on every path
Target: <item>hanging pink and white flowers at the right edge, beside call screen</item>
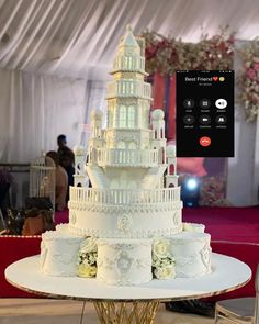
M 254 122 L 259 115 L 259 38 L 249 42 L 239 51 L 239 55 L 243 60 L 240 100 L 247 122 Z

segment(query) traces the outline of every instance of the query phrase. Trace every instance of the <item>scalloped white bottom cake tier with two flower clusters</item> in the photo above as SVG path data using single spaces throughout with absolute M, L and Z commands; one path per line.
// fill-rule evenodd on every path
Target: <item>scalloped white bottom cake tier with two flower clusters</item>
M 114 286 L 210 273 L 210 234 L 203 233 L 201 224 L 183 224 L 184 228 L 167 237 L 97 238 L 75 235 L 67 225 L 59 225 L 42 235 L 41 271 L 97 277 Z

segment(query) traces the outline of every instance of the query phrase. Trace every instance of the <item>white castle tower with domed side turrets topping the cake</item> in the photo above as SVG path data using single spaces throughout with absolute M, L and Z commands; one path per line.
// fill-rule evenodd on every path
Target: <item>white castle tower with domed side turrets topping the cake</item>
M 91 112 L 91 135 L 88 145 L 87 172 L 93 188 L 150 189 L 177 187 L 176 156 L 172 148 L 167 157 L 164 111 L 154 110 L 150 116 L 151 87 L 145 81 L 145 48 L 131 25 L 115 54 L 108 86 L 106 127 L 102 129 L 102 111 Z M 79 164 L 81 157 L 78 156 Z M 77 154 L 76 154 L 77 165 Z M 172 175 L 170 174 L 170 169 Z M 80 175 L 75 186 L 83 186 Z

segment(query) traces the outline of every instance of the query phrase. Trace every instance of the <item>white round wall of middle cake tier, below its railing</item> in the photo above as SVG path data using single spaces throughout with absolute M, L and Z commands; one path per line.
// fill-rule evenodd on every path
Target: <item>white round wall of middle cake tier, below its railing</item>
M 127 215 L 127 231 L 122 231 L 122 215 Z M 77 222 L 69 223 L 69 228 L 78 235 L 98 237 L 153 237 L 170 236 L 182 231 L 181 204 L 158 206 L 117 206 L 93 205 L 90 210 L 77 210 Z M 125 228 L 125 226 L 124 226 Z

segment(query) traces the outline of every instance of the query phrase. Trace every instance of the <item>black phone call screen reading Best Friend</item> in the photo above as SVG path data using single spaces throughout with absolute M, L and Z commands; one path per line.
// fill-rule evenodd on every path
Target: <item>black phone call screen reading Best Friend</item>
M 177 71 L 177 156 L 234 156 L 234 71 Z

